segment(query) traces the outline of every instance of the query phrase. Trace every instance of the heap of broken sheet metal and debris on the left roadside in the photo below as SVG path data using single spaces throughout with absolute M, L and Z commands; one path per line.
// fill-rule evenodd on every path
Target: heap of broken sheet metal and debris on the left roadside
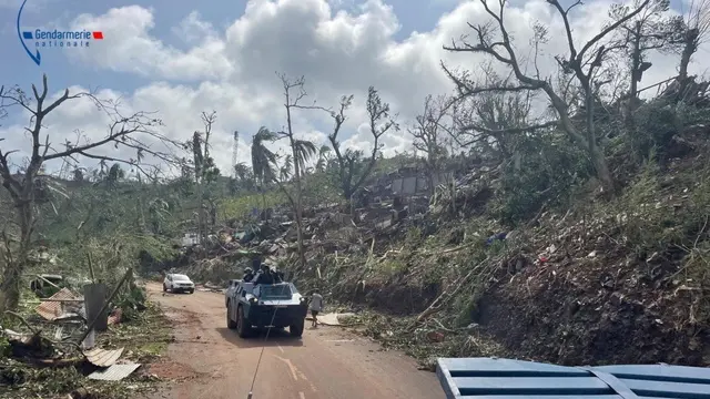
M 54 284 L 47 279 L 44 283 Z M 134 318 L 135 311 L 145 309 L 144 295 L 135 295 L 142 288 L 132 280 L 131 269 L 118 286 L 111 287 L 111 293 L 102 284 L 85 285 L 85 295 L 69 287 L 55 288 L 52 296 L 39 298 L 31 311 L 6 311 L 4 326 L 0 325 L 0 350 L 2 341 L 8 350 L 4 357 L 0 354 L 0 392 L 3 386 L 41 389 L 28 376 L 44 369 L 60 374 L 71 369 L 70 375 L 77 378 L 119 381 L 140 368 L 140 362 L 125 358 L 124 347 L 111 348 L 114 345 L 110 338 L 114 334 L 111 328 L 120 327 Z M 72 397 L 90 397 L 89 391 L 80 393 Z

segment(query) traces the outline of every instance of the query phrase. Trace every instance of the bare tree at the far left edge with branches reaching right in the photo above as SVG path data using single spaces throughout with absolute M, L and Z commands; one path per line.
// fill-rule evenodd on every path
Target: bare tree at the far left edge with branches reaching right
M 6 265 L 6 272 L 0 284 L 0 293 L 3 296 L 4 309 L 17 308 L 19 300 L 20 278 L 24 274 L 29 265 L 29 253 L 32 245 L 32 234 L 34 233 L 36 215 L 34 204 L 36 195 L 41 181 L 38 178 L 41 168 L 47 162 L 54 160 L 63 160 L 70 157 L 75 160 L 83 156 L 92 160 L 112 161 L 126 163 L 141 168 L 135 160 L 123 160 L 103 155 L 102 153 L 116 152 L 115 149 L 130 149 L 131 151 L 141 149 L 145 154 L 151 154 L 162 161 L 172 161 L 171 156 L 165 153 L 150 150 L 150 146 L 140 137 L 149 140 L 160 140 L 175 144 L 155 131 L 162 122 L 153 117 L 146 112 L 136 112 L 132 115 L 123 115 L 118 103 L 113 101 L 104 101 L 97 99 L 91 93 L 70 94 L 69 90 L 59 95 L 57 100 L 48 99 L 49 88 L 47 84 L 47 75 L 42 78 L 42 88 L 38 90 L 32 85 L 32 96 L 27 95 L 19 88 L 0 88 L 0 109 L 7 111 L 11 108 L 18 108 L 30 114 L 28 127 L 24 130 L 29 133 L 31 149 L 24 150 L 29 154 L 29 161 L 23 173 L 13 171 L 10 155 L 20 150 L 7 151 L 0 150 L 0 176 L 2 177 L 2 186 L 8 191 L 16 207 L 16 219 L 19 226 L 19 238 L 17 239 L 16 253 L 11 256 L 12 262 Z M 83 144 L 64 143 L 63 151 L 57 151 L 51 146 L 50 135 L 42 137 L 47 116 L 62 104 L 70 100 L 85 99 L 92 101 L 100 111 L 111 121 L 108 126 L 108 134 L 101 140 L 89 141 L 84 137 Z M 7 250 L 10 250 L 9 245 Z M 10 258 L 10 257 L 9 257 Z

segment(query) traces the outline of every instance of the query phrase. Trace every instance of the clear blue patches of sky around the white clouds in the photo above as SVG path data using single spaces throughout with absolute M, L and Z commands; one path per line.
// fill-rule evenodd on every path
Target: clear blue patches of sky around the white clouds
M 133 91 L 148 84 L 151 79 L 125 72 L 97 70 L 92 65 L 75 65 L 70 63 L 61 52 L 47 52 L 42 64 L 38 66 L 24 53 L 20 44 L 16 21 L 21 0 L 3 0 L 0 2 L 0 54 L 4 62 L 0 63 L 2 84 L 28 84 L 38 82 L 42 73 L 51 76 L 55 88 L 81 84 L 84 86 L 114 88 L 121 91 Z M 195 3 L 199 7 L 195 8 Z M 407 38 L 412 31 L 432 30 L 439 16 L 450 11 L 456 4 L 447 0 L 390 0 L 395 13 L 402 24 L 396 33 L 398 40 Z M 82 13 L 102 14 L 110 8 L 138 4 L 154 10 L 155 28 L 151 32 L 165 44 L 185 49 L 185 43 L 172 31 L 191 11 L 197 10 L 201 17 L 222 32 L 234 20 L 244 13 L 244 0 L 210 0 L 202 2 L 171 1 L 171 0 L 133 0 L 133 1 L 80 1 L 80 0 L 28 0 L 24 8 L 21 27 L 43 28 L 52 23 L 67 24 Z M 336 9 L 349 9 L 352 3 L 343 2 Z

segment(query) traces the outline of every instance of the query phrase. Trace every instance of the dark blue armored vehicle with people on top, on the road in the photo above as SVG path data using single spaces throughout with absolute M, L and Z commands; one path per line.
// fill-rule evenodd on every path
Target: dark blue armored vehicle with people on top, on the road
M 288 327 L 301 337 L 308 304 L 291 283 L 257 284 L 239 280 L 226 298 L 226 326 L 242 338 L 255 329 Z

